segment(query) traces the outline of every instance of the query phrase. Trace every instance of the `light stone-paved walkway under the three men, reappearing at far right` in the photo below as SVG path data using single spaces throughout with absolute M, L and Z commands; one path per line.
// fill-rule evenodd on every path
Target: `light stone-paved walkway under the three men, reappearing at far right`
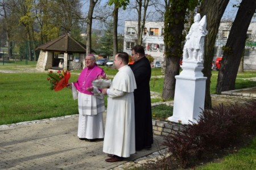
M 212 95 L 213 103 L 245 103 L 256 99 L 256 87 Z M 106 114 L 104 114 L 104 119 Z M 105 162 L 103 141 L 77 137 L 78 115 L 0 125 L 0 169 L 125 169 L 166 155 L 163 137 L 154 136 L 150 150 L 117 163 Z

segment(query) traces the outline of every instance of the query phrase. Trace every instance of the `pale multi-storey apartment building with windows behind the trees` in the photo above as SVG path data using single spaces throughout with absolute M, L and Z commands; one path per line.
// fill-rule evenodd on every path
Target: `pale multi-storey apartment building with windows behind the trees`
M 216 37 L 214 58 L 223 56 L 222 46 L 228 40 L 232 22 L 221 22 Z M 137 42 L 137 21 L 125 21 L 125 36 L 123 51 L 131 54 L 131 48 Z M 143 30 L 142 45 L 146 54 L 150 54 L 155 61 L 162 61 L 164 56 L 164 22 L 146 22 Z M 256 22 L 251 22 L 247 31 L 247 41 L 243 57 L 245 70 L 256 70 Z

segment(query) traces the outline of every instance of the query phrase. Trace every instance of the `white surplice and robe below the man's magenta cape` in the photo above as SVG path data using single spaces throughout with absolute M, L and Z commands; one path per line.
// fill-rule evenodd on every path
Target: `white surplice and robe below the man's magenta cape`
M 79 138 L 104 138 L 103 112 L 105 111 L 104 97 L 97 94 L 97 87 L 93 87 L 94 95 L 83 94 L 72 86 L 73 99 L 78 99 L 79 124 L 77 136 Z M 78 94 L 78 96 L 77 96 Z

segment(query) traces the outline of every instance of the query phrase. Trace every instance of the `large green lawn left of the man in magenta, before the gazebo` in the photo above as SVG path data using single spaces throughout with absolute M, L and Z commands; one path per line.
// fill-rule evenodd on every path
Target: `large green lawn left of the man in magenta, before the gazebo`
M 0 79 L 0 125 L 78 113 L 71 90 L 49 90 L 45 73 L 0 73 Z

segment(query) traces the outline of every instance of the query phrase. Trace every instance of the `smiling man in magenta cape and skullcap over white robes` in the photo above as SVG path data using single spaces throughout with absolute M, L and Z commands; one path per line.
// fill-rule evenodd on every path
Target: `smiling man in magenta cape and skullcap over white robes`
M 94 79 L 106 77 L 104 70 L 97 66 L 93 54 L 85 57 L 85 69 L 82 70 L 77 82 L 72 86 L 74 100 L 78 98 L 79 125 L 77 136 L 81 140 L 93 142 L 104 138 L 103 116 L 105 111 L 104 95 L 92 85 Z M 78 96 L 77 96 L 78 94 Z

